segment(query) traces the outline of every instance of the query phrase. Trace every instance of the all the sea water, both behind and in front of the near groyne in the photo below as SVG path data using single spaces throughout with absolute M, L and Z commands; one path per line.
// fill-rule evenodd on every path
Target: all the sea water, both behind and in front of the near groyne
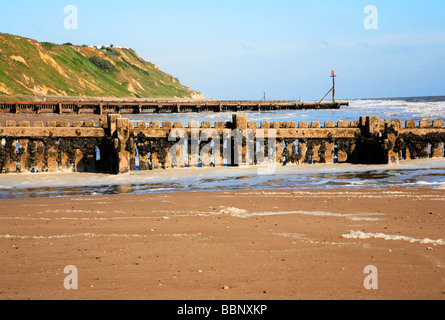
M 445 97 L 357 99 L 338 110 L 246 112 L 248 121 L 339 121 L 378 116 L 383 120 L 445 120 Z M 231 121 L 231 113 L 126 115 L 137 121 Z M 26 173 L 0 175 L 0 200 L 42 197 L 147 194 L 164 192 L 335 189 L 445 189 L 445 157 L 402 160 L 393 165 L 305 164 L 273 167 L 176 168 L 99 173 Z

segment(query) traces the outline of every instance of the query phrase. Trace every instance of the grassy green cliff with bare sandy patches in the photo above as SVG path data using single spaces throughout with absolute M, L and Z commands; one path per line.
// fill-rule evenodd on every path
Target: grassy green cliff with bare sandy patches
M 132 49 L 39 43 L 3 33 L 0 94 L 203 98 Z

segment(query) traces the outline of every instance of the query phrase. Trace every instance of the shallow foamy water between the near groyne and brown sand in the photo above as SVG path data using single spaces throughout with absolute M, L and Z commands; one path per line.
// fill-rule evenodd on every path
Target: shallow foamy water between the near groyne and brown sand
M 445 158 L 399 165 L 301 165 L 264 171 L 245 168 L 185 168 L 96 173 L 6 174 L 0 199 L 280 188 L 445 188 Z

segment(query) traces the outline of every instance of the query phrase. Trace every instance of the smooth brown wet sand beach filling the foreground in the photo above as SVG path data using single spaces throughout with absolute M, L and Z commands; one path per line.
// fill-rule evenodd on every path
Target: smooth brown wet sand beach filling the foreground
M 444 300 L 445 245 L 422 241 L 444 208 L 403 188 L 0 201 L 0 299 Z

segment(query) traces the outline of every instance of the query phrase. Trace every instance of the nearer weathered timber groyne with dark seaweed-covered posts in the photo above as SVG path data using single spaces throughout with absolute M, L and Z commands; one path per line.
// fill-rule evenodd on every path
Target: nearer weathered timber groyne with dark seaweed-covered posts
M 131 122 L 7 121 L 0 127 L 0 171 L 127 173 L 174 167 L 314 163 L 396 164 L 444 157 L 443 120 Z

